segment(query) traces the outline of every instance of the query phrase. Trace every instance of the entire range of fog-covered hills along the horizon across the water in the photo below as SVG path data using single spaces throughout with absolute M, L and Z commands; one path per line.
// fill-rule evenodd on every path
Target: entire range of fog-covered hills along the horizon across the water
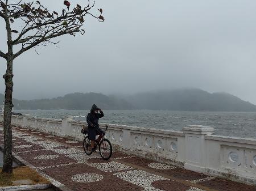
M 0 94 L 0 101 L 3 101 L 3 98 L 4 96 Z M 224 92 L 210 94 L 199 89 L 144 92 L 132 96 L 106 96 L 91 92 L 68 94 L 54 99 L 14 99 L 15 109 L 90 109 L 92 104 L 97 104 L 102 109 L 256 111 L 256 105 L 243 101 L 236 96 Z

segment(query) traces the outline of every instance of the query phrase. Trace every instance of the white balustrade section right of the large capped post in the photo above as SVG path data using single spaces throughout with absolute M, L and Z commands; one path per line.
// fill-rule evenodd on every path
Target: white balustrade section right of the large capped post
M 205 136 L 206 172 L 256 185 L 256 139 Z

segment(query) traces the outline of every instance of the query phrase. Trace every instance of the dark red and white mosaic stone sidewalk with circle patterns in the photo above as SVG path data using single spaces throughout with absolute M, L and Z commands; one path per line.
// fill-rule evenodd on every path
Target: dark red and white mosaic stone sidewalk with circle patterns
M 121 152 L 105 161 L 98 153 L 86 155 L 82 142 L 26 128 L 13 127 L 13 152 L 73 191 L 256 191 L 255 186 Z

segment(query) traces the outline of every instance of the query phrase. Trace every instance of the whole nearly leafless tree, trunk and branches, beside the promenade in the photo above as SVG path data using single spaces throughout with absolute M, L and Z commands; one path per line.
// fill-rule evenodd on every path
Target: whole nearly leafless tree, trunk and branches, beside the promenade
M 12 2 L 0 0 L 0 3 L 0 18 L 5 20 L 8 48 L 7 53 L 0 50 L 0 57 L 6 60 L 6 74 L 3 75 L 6 89 L 3 122 L 5 147 L 2 172 L 11 173 L 13 171 L 11 111 L 13 108 L 13 62 L 15 58 L 38 45 L 46 46 L 49 43 L 58 43 L 52 41 L 56 37 L 67 34 L 75 36 L 76 33 L 84 35 L 85 31 L 81 27 L 84 25 L 86 15 L 96 18 L 99 22 L 103 22 L 104 17 L 102 9 L 98 9 L 97 16 L 90 12 L 94 7 L 94 2 L 91 3 L 90 0 L 88 0 L 88 5 L 84 7 L 76 5 L 73 9 L 71 9 L 70 2 L 64 1 L 61 12 L 51 12 L 39 1 L 26 3 L 23 0 Z M 16 22 L 19 25 L 22 23 L 20 29 L 13 28 Z M 13 36 L 16 38 L 13 39 Z M 14 46 L 19 49 L 16 53 L 13 51 Z

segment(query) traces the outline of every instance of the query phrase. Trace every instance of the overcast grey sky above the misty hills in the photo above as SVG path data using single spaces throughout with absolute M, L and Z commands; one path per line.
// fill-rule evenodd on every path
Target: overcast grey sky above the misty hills
M 63 7 L 62 0 L 42 2 Z M 15 60 L 14 97 L 196 87 L 256 104 L 255 0 L 96 0 L 96 8 L 106 20 L 87 18 L 85 36 L 61 37 L 58 48 L 40 47 L 40 55 L 31 49 Z M 6 50 L 1 19 L 0 26 Z M 5 66 L 0 58 L 1 76 Z M 3 93 L 2 78 L 0 84 Z

